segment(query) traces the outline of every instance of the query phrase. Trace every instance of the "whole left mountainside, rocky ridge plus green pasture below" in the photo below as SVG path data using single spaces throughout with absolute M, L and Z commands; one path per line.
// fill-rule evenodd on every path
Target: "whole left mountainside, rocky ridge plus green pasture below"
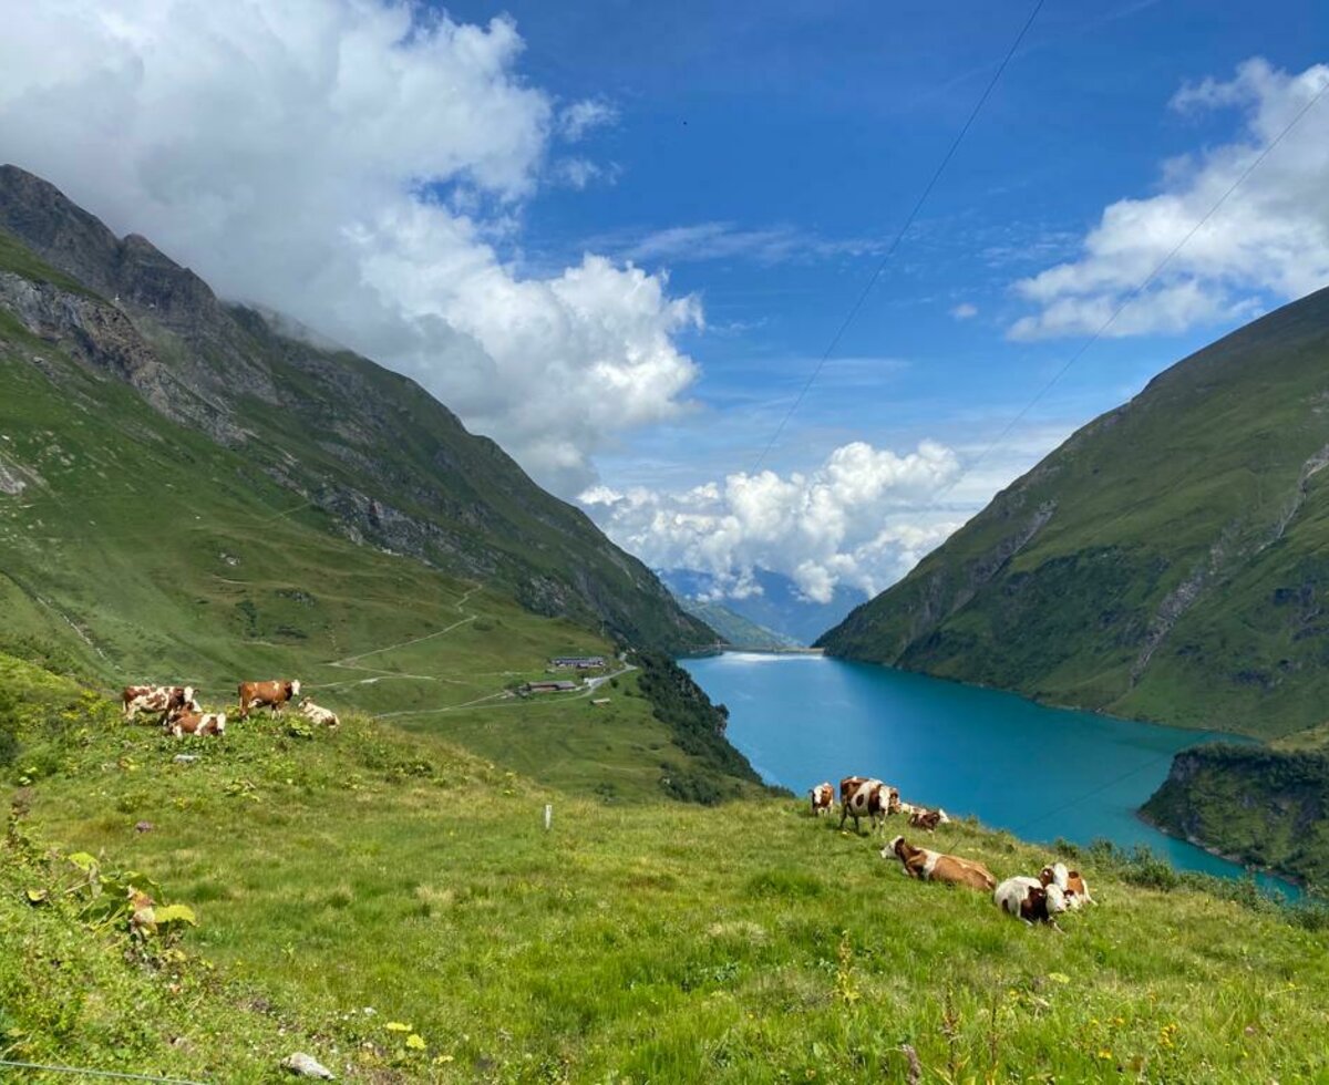
M 189 331 L 173 303 L 159 309 Z M 218 336 L 239 327 L 217 319 Z M 299 676 L 338 710 L 445 729 L 602 799 L 714 802 L 756 785 L 723 714 L 675 688 L 686 673 L 662 652 L 714 633 L 496 446 L 408 381 L 280 339 L 242 364 L 291 386 L 318 368 L 311 398 L 264 421 L 233 396 L 235 422 L 194 372 L 215 364 L 222 380 L 230 356 L 153 321 L 0 232 L 0 651 L 102 689 L 189 681 L 215 708 L 239 679 Z M 354 402 L 328 425 L 358 429 L 343 445 L 302 438 L 311 402 L 338 410 L 339 381 Z M 415 505 L 384 497 L 408 490 Z M 355 494 L 364 530 L 343 505 Z M 550 656 L 625 641 L 641 651 L 599 693 L 512 696 Z M 0 760 L 8 745 L 0 725 Z

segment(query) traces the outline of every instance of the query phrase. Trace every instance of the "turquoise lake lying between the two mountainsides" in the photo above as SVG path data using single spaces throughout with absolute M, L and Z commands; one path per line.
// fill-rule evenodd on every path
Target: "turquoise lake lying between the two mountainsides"
M 1245 873 L 1136 817 L 1197 732 L 823 656 L 727 652 L 680 663 L 728 707 L 730 741 L 769 784 L 805 794 L 823 780 L 874 776 L 906 801 L 1030 841 L 1106 837 L 1148 845 L 1179 870 Z M 1260 882 L 1296 895 L 1277 879 Z

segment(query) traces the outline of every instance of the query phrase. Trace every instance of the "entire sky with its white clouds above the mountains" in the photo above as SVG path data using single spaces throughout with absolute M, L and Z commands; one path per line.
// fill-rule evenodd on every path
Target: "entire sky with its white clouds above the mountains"
M 867 595 L 1329 284 L 1316 0 L 1046 0 L 901 235 L 1033 9 L 0 0 L 0 159 L 650 564 Z

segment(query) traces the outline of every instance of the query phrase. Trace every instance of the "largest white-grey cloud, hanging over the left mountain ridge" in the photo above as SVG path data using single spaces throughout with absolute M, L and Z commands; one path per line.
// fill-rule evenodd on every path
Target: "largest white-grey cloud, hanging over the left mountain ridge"
M 541 482 L 575 493 L 615 433 L 683 409 L 699 325 L 662 275 L 605 256 L 524 276 L 557 154 L 613 121 L 520 76 L 508 19 L 376 0 L 52 0 L 0 35 L 0 147 L 221 293 L 419 380 Z

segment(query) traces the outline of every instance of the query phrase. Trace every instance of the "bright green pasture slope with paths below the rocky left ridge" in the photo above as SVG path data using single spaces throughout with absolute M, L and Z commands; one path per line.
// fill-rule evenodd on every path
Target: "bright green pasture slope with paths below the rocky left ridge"
M 0 491 L 0 651 L 101 688 L 189 681 L 217 707 L 241 677 L 296 675 L 323 704 L 520 750 L 510 756 L 533 776 L 606 798 L 680 778 L 707 777 L 708 794 L 755 781 L 682 750 L 633 672 L 606 687 L 609 705 L 509 697 L 546 677 L 553 655 L 614 645 L 501 584 L 326 530 L 326 514 L 294 505 L 245 456 L 163 420 L 3 311 L 0 386 L 0 467 L 24 465 L 23 489 Z M 704 699 L 696 710 L 710 712 Z

